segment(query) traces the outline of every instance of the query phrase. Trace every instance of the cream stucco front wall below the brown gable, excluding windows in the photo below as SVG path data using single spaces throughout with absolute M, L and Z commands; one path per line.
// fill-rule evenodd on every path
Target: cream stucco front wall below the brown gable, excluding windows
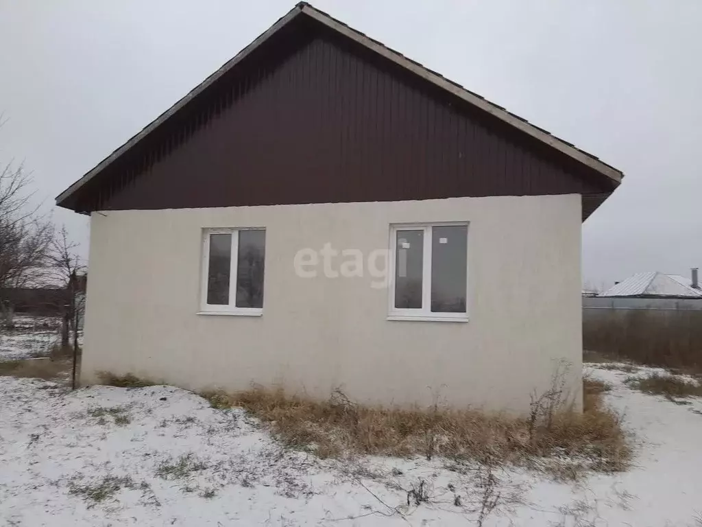
M 299 249 L 367 255 L 388 247 L 392 223 L 439 221 L 470 222 L 468 322 L 387 320 L 388 290 L 367 272 L 296 275 Z M 266 228 L 263 316 L 197 315 L 202 229 L 246 226 Z M 364 403 L 438 394 L 525 412 L 558 360 L 579 381 L 580 254 L 579 195 L 93 214 L 81 381 L 131 372 L 195 390 L 340 387 Z

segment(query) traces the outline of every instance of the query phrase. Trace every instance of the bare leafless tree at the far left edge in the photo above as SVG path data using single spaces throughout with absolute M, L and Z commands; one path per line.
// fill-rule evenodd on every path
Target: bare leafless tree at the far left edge
M 0 169 L 0 295 L 7 287 L 39 285 L 48 272 L 53 226 L 31 204 L 32 183 L 22 165 Z M 4 300 L 0 296 L 5 310 Z

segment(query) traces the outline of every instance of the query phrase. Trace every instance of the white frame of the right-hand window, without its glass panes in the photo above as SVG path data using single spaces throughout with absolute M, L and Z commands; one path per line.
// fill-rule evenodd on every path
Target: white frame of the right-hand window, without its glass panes
M 388 259 L 388 282 L 390 289 L 390 310 L 388 320 L 430 320 L 434 322 L 468 322 L 468 256 L 470 253 L 469 241 L 466 240 L 465 254 L 465 313 L 434 313 L 431 311 L 432 299 L 432 227 L 469 227 L 468 221 L 429 222 L 429 223 L 394 223 L 390 225 L 390 258 Z M 397 262 L 397 233 L 402 230 L 423 230 L 422 254 L 422 307 L 421 308 L 396 308 L 395 307 L 395 266 Z M 470 228 L 468 228 L 470 230 Z M 466 233 L 468 236 L 468 232 Z

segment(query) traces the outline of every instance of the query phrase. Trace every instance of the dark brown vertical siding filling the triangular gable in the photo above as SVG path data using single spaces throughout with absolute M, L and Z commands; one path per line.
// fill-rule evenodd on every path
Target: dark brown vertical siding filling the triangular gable
M 242 67 L 226 91 L 218 86 L 193 101 L 197 107 L 89 183 L 77 209 L 560 193 L 604 199 L 614 188 L 334 34 L 281 38 L 296 51 L 259 51 L 249 64 L 265 68 Z

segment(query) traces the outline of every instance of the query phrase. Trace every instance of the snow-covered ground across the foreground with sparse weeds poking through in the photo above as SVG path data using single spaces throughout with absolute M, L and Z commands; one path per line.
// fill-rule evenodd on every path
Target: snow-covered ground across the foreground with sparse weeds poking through
M 576 485 L 497 471 L 502 504 L 484 525 L 700 525 L 702 402 L 677 405 L 631 391 L 625 372 L 587 369 L 614 385 L 607 402 L 642 443 L 635 467 Z M 0 525 L 475 525 L 484 471 L 445 464 L 319 461 L 284 450 L 243 411 L 170 386 L 71 393 L 0 377 Z M 408 507 L 421 479 L 428 502 Z M 100 502 L 85 495 L 115 482 Z M 519 491 L 521 505 L 504 503 Z

